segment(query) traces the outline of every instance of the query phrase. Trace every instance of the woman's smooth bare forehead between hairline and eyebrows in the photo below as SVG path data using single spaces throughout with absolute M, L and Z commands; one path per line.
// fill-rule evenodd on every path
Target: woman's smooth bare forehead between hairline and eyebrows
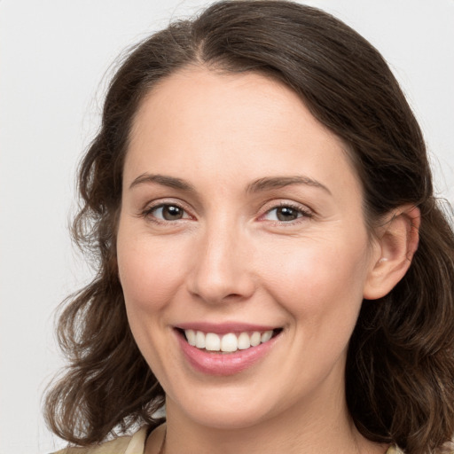
M 293 90 L 262 74 L 200 67 L 163 79 L 139 106 L 125 183 L 145 171 L 184 178 L 215 171 L 219 180 L 312 173 L 358 185 L 340 138 Z

